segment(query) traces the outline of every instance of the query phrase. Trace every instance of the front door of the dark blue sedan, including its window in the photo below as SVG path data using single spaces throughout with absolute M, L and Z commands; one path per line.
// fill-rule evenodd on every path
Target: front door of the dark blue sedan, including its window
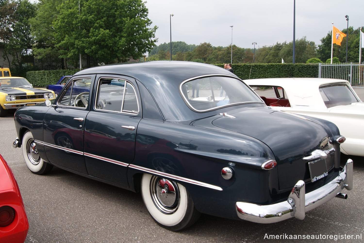
M 84 123 L 90 110 L 90 88 L 94 77 L 70 80 L 44 118 L 43 134 L 48 160 L 83 174 L 87 174 L 83 155 Z

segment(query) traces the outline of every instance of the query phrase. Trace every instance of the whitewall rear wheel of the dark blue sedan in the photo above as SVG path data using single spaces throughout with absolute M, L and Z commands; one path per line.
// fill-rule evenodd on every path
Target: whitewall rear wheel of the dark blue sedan
M 178 231 L 190 227 L 200 213 L 186 188 L 171 180 L 169 190 L 160 183 L 161 177 L 143 174 L 141 182 L 142 198 L 149 214 L 163 228 Z M 171 188 L 172 187 L 172 188 Z

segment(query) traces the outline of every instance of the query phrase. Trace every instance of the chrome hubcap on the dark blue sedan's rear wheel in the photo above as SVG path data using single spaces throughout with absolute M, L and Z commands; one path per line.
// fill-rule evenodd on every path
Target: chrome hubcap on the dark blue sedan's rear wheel
M 155 206 L 165 214 L 172 214 L 179 205 L 179 190 L 174 181 L 153 176 L 150 194 Z

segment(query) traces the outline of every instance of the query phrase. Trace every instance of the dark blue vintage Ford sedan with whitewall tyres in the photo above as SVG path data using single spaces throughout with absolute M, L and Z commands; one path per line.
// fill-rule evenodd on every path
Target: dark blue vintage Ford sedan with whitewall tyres
M 73 89 L 83 84 L 83 90 Z M 223 90 L 222 90 L 223 89 Z M 223 91 L 223 92 L 220 92 Z M 233 73 L 155 61 L 98 66 L 52 103 L 19 108 L 29 170 L 64 170 L 142 193 L 155 222 L 177 231 L 201 213 L 259 223 L 305 212 L 352 189 L 345 138 L 328 121 L 267 107 Z

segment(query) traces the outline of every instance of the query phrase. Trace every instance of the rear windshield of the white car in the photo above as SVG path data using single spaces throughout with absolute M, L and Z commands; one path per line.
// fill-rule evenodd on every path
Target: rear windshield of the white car
M 327 108 L 359 102 L 353 92 L 351 92 L 349 87 L 345 84 L 321 86 L 319 90 Z

